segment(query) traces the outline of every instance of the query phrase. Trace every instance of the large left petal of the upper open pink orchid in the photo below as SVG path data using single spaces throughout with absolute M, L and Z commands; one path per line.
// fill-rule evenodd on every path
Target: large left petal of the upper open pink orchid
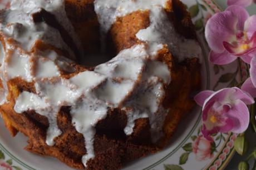
M 223 42 L 235 34 L 238 18 L 230 11 L 214 14 L 205 27 L 205 37 L 210 48 L 216 53 L 223 53 Z

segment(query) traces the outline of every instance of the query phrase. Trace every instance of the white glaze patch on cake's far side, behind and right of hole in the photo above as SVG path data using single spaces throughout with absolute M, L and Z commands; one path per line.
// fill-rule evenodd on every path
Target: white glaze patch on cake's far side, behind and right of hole
M 167 44 L 171 53 L 183 61 L 185 58 L 201 56 L 199 43 L 194 39 L 180 36 L 164 11 L 166 0 L 95 0 L 95 12 L 101 25 L 101 31 L 107 33 L 116 18 L 124 17 L 135 11 L 150 11 L 150 26 L 141 29 L 136 37 L 149 44 L 152 56 Z

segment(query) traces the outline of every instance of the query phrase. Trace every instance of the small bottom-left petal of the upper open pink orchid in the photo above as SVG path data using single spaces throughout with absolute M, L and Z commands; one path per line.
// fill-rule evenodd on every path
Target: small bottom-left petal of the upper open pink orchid
M 215 53 L 214 51 L 211 51 L 209 54 L 210 62 L 218 65 L 232 63 L 235 61 L 235 59 L 237 59 L 237 57 L 230 54 L 227 50 L 225 50 L 223 53 Z

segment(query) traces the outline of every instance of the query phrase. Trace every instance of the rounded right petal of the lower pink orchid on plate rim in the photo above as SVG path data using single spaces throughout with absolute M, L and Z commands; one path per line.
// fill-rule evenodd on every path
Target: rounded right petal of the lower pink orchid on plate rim
M 227 116 L 232 119 L 234 127 L 232 132 L 243 133 L 249 126 L 250 114 L 246 104 L 242 101 L 235 103 L 227 113 Z

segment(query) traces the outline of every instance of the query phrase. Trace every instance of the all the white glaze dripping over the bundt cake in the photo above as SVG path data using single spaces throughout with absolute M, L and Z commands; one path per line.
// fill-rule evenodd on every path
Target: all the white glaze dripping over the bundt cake
M 161 106 L 161 103 L 165 97 L 164 86 L 170 83 L 171 73 L 165 63 L 156 60 L 155 55 L 159 49 L 163 48 L 163 44 L 167 44 L 171 51 L 182 52 L 185 56 L 189 52 L 178 48 L 178 45 L 196 43 L 196 41 L 186 39 L 182 40 L 184 43 L 180 43 L 179 39 L 182 37 L 178 36 L 173 24 L 166 18 L 163 9 L 165 3 L 166 0 L 155 0 L 150 3 L 147 0 L 96 0 L 95 11 L 105 33 L 117 17 L 137 10 L 149 10 L 150 26 L 136 34 L 137 38 L 144 41 L 146 45 L 140 44 L 124 49 L 111 61 L 97 66 L 93 72 L 85 71 L 70 79 L 65 79 L 60 77 L 60 70 L 72 72 L 74 69 L 70 66 L 71 61 L 68 59 L 52 51 L 25 55 L 26 51 L 30 51 L 36 39 L 42 39 L 56 47 L 66 48 L 58 31 L 48 27 L 45 23 L 35 24 L 29 17 L 35 10 L 45 8 L 46 11 L 55 14 L 61 24 L 67 24 L 67 29 L 72 35 L 72 26 L 66 19 L 63 1 L 38 0 L 36 3 L 26 0 L 13 1 L 11 6 L 13 10 L 8 12 L 9 15 L 5 18 L 5 22 L 1 24 L 6 43 L 4 44 L 6 48 L 1 51 L 5 62 L 2 62 L 0 68 L 1 79 L 5 82 L 3 83 L 4 92 L 8 92 L 7 80 L 17 76 L 28 82 L 34 81 L 36 87 L 35 94 L 26 91 L 19 94 L 14 110 L 17 113 L 35 110 L 46 116 L 49 121 L 46 143 L 52 146 L 55 144 L 55 137 L 61 134 L 57 126 L 57 113 L 62 106 L 71 106 L 72 123 L 77 132 L 82 133 L 85 138 L 87 153 L 82 157 L 85 166 L 87 161 L 95 156 L 93 150 L 95 126 L 99 120 L 107 116 L 109 107 L 120 107 L 126 111 L 128 120 L 124 132 L 127 135 L 132 134 L 136 119 L 149 118 L 152 141 L 156 142 L 163 133 L 162 127 L 168 112 Z M 16 14 L 18 15 L 15 16 Z M 22 32 L 19 27 L 22 27 Z M 168 27 L 168 29 L 163 31 L 163 27 Z M 153 32 L 155 36 L 152 36 Z M 31 36 L 29 37 L 28 34 Z M 16 49 L 8 44 L 7 38 L 9 37 L 19 43 L 17 46 L 21 46 L 15 53 L 18 55 L 7 53 L 8 51 L 15 52 Z M 195 47 L 200 50 L 198 44 Z M 189 53 L 185 57 L 197 56 Z M 25 59 L 28 62 L 25 63 L 23 61 Z M 183 59 L 181 57 L 181 60 Z M 22 62 L 12 64 L 12 60 Z M 18 70 L 15 72 L 16 64 L 22 72 Z M 21 67 L 22 64 L 24 67 Z

